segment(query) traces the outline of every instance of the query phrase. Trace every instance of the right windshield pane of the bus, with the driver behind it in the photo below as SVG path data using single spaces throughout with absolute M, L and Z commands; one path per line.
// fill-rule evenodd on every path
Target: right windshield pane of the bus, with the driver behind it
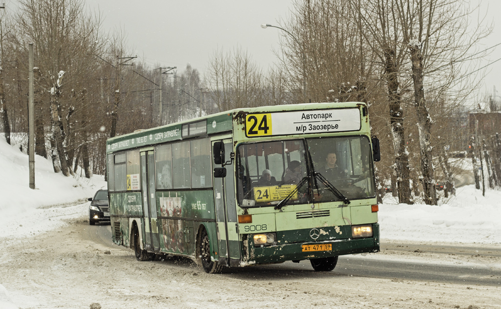
M 371 147 L 366 136 L 308 139 L 315 172 L 322 174 L 348 199 L 375 196 Z M 340 200 L 321 182 L 315 202 Z

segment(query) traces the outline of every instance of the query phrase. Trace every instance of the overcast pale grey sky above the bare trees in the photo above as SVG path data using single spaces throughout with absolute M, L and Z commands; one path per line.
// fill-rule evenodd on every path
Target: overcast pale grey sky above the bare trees
M 203 72 L 212 53 L 218 48 L 230 51 L 235 47 L 246 50 L 256 63 L 268 69 L 279 47 L 281 30 L 262 29 L 263 23 L 277 25 L 292 9 L 294 0 L 86 0 L 91 9 L 104 15 L 104 28 L 125 28 L 128 43 L 137 56 L 150 65 L 176 66 L 178 72 L 187 63 Z M 473 6 L 479 0 L 471 0 Z M 487 22 L 501 12 L 498 0 L 483 0 L 482 12 Z M 497 23 L 489 39 L 478 50 L 501 43 L 501 22 Z M 483 63 L 501 58 L 499 46 Z M 501 95 L 501 61 L 488 67 L 482 92 L 492 93 L 496 86 Z

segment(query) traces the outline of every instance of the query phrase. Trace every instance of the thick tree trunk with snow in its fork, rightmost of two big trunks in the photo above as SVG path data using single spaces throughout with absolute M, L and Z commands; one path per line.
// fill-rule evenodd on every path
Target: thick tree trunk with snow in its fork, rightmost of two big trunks
M 426 109 L 423 89 L 423 56 L 417 46 L 409 48 L 412 61 L 412 80 L 414 83 L 414 107 L 417 114 L 417 128 L 419 131 L 419 150 L 421 154 L 421 173 L 423 175 L 424 202 L 436 205 L 437 197 L 435 180 L 433 179 L 433 165 L 431 158 L 431 118 Z

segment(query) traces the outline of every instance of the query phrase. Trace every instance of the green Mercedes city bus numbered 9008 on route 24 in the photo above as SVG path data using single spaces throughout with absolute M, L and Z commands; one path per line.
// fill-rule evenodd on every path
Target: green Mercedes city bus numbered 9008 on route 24
M 358 102 L 235 109 L 114 137 L 113 241 L 208 273 L 306 259 L 330 271 L 339 255 L 379 251 L 379 156 Z

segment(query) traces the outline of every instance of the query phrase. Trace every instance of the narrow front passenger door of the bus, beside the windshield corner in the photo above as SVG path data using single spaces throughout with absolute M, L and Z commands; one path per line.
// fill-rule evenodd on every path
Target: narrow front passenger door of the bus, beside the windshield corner
M 212 141 L 212 145 L 215 141 Z M 231 139 L 225 139 L 226 162 L 229 161 L 229 153 L 232 149 Z M 221 165 L 214 164 L 214 168 Z M 238 234 L 236 232 L 236 208 L 234 194 L 234 171 L 233 164 L 226 167 L 225 178 L 213 178 L 214 180 L 214 204 L 216 211 L 217 245 L 219 247 L 219 263 L 230 266 L 232 260 L 239 263 L 240 249 Z

